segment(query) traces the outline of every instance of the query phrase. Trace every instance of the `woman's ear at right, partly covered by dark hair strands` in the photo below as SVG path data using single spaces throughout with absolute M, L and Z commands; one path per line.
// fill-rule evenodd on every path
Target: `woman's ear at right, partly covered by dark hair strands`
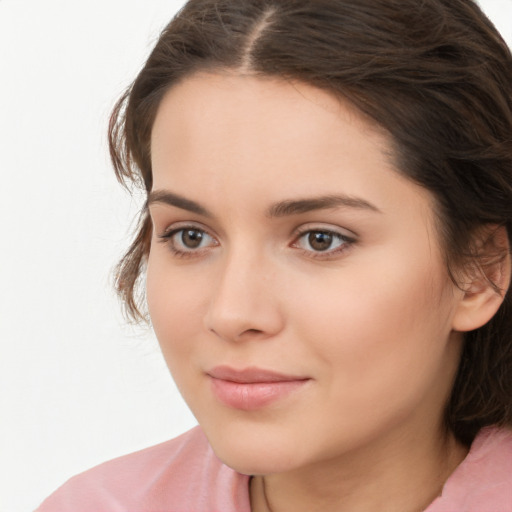
M 464 271 L 464 293 L 452 328 L 467 332 L 485 325 L 498 311 L 510 286 L 510 242 L 504 226 L 486 226 L 476 240 L 476 257 Z

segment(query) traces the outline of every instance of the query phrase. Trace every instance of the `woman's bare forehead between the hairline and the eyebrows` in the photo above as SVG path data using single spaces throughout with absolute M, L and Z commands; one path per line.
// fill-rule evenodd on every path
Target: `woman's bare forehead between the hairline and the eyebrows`
M 300 82 L 193 75 L 162 100 L 151 145 L 154 189 L 233 204 L 236 195 L 243 208 L 331 193 L 394 208 L 404 190 L 429 196 L 396 172 L 387 133 Z

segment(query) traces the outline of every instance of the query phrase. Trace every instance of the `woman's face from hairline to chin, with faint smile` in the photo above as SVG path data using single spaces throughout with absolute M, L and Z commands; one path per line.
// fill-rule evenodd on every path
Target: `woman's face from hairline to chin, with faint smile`
M 217 455 L 285 472 L 440 422 L 460 349 L 430 194 L 349 106 L 198 74 L 152 133 L 147 298 Z

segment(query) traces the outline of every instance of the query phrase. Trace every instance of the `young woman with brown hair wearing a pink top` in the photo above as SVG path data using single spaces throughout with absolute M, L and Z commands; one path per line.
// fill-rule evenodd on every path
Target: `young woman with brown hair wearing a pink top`
M 110 148 L 200 427 L 39 510 L 512 510 L 511 84 L 471 0 L 189 1 Z

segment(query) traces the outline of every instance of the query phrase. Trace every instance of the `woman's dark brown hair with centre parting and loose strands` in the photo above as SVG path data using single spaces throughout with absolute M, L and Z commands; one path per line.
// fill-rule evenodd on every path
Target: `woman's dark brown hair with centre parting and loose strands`
M 301 80 L 386 129 L 398 171 L 436 199 L 449 269 L 474 258 L 483 226 L 504 226 L 512 239 L 512 57 L 472 0 L 190 0 L 112 114 L 121 182 L 151 190 L 150 135 L 165 92 L 196 71 L 223 69 Z M 150 236 L 144 207 L 117 268 L 135 319 Z M 467 444 L 482 426 L 512 424 L 510 293 L 466 334 L 445 417 Z

